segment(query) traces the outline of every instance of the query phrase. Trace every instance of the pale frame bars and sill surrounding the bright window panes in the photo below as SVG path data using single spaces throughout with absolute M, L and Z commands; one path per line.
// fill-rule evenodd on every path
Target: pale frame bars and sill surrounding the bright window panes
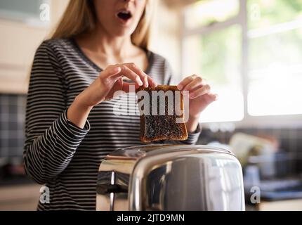
M 232 122 L 236 127 L 302 127 L 302 114 L 298 115 L 261 115 L 261 116 L 253 116 L 248 113 L 248 92 L 249 92 L 249 39 L 251 35 L 256 31 L 259 31 L 261 34 L 264 32 L 263 29 L 257 30 L 248 30 L 248 20 L 247 20 L 247 1 L 248 0 L 237 0 L 239 1 L 239 12 L 232 18 L 225 20 L 223 22 L 217 22 L 211 25 L 199 26 L 194 29 L 187 29 L 185 27 L 185 13 L 181 12 L 181 23 L 180 23 L 180 72 L 183 74 L 184 68 L 184 41 L 186 37 L 190 37 L 192 35 L 202 35 L 208 34 L 210 32 L 223 30 L 232 25 L 239 25 L 242 30 L 241 37 L 241 65 L 240 65 L 240 73 L 242 76 L 242 94 L 244 100 L 244 117 L 240 121 Z M 293 21 L 291 21 L 293 22 Z M 287 22 L 287 23 L 291 23 Z M 294 23 L 294 22 L 293 22 Z M 282 25 L 279 23 L 277 25 Z M 271 27 L 277 26 L 272 25 Z M 302 27 L 302 25 L 301 25 Z M 298 28 L 298 27 L 296 27 Z M 294 28 L 295 29 L 295 28 Z M 277 33 L 277 32 L 276 32 Z M 302 100 L 301 100 L 302 103 Z M 206 127 L 209 127 L 209 124 L 225 124 L 230 122 L 203 122 L 202 124 Z

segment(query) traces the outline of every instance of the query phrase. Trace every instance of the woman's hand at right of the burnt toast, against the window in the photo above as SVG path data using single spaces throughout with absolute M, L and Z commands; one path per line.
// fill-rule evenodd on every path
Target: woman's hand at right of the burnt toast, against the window
M 217 95 L 211 93 L 211 86 L 197 75 L 185 77 L 178 84 L 178 89 L 189 91 L 189 120 L 199 118 L 200 113 L 217 99 Z

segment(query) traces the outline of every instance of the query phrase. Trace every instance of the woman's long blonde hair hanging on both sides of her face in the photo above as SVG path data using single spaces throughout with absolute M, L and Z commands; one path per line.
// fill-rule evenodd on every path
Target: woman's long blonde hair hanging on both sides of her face
M 131 41 L 142 49 L 147 49 L 150 39 L 150 21 L 155 7 L 155 0 L 146 0 L 145 10 L 131 34 Z M 70 0 L 63 17 L 51 35 L 51 39 L 70 38 L 84 32 L 91 32 L 96 27 L 96 12 L 93 0 Z

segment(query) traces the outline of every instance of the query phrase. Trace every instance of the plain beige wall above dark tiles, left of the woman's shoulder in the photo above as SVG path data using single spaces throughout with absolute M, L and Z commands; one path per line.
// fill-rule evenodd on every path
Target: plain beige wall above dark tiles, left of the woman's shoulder
M 67 2 L 51 0 L 51 23 L 46 26 L 0 20 L 0 92 L 27 92 L 27 75 L 34 51 L 58 22 Z

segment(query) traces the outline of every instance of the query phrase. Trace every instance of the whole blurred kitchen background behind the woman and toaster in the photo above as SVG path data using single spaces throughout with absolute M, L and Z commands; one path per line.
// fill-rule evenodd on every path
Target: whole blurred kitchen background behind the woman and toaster
M 0 0 L 0 210 L 39 200 L 22 167 L 27 79 L 67 3 Z M 178 80 L 202 75 L 219 95 L 199 144 L 237 155 L 247 210 L 302 210 L 302 1 L 159 0 L 151 40 Z

